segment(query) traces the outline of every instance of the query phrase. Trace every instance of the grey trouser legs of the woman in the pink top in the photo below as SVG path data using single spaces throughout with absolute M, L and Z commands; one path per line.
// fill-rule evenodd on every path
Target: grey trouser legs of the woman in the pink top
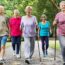
M 58 36 L 58 39 L 61 46 L 63 61 L 65 62 L 65 36 Z M 65 63 L 63 65 L 65 65 Z

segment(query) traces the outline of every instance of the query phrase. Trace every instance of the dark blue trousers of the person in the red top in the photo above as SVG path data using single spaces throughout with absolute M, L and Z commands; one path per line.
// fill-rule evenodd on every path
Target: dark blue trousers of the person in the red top
M 20 45 L 21 45 L 21 36 L 11 36 L 12 48 L 16 51 L 16 54 L 19 54 Z

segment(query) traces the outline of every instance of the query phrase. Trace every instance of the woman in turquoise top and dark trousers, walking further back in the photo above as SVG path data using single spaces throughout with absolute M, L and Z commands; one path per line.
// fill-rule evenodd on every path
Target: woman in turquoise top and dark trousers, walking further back
M 47 16 L 43 14 L 41 16 L 41 22 L 39 22 L 39 36 L 42 42 L 42 51 L 44 57 L 48 55 L 49 47 L 49 34 L 50 34 L 50 22 L 47 21 Z

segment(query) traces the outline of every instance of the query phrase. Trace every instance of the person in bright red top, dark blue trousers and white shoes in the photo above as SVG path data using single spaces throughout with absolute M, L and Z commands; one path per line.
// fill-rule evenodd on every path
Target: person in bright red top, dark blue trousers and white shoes
M 21 45 L 21 30 L 20 30 L 21 17 L 19 10 L 15 9 L 13 17 L 9 19 L 9 32 L 12 41 L 13 55 L 17 58 L 20 57 L 20 45 Z

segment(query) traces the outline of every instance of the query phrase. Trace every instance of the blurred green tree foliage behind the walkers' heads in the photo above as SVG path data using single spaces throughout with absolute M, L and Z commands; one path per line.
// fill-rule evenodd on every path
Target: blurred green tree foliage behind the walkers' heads
M 27 5 L 33 7 L 33 14 L 40 20 L 41 14 L 45 13 L 52 22 L 58 12 L 58 3 L 61 0 L 0 0 L 0 4 L 5 6 L 8 17 L 12 15 L 13 9 L 19 9 L 21 16 L 25 14 L 24 9 Z

